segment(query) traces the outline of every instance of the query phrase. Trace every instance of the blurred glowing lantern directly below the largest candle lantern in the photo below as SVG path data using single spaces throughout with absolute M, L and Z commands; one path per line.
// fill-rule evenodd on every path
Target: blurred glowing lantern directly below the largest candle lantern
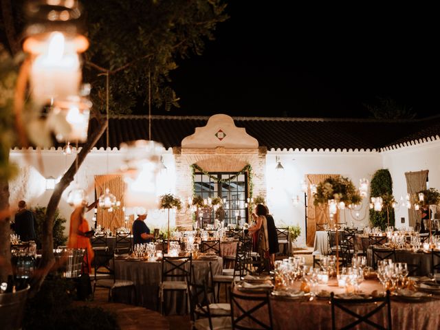
M 85 142 L 89 129 L 91 102 L 80 96 L 69 96 L 66 100 L 55 100 L 47 117 L 47 125 L 56 140 Z

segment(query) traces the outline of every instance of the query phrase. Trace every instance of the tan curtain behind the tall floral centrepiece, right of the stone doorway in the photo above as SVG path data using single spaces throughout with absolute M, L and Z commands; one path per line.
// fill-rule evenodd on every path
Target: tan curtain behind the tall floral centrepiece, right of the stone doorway
M 319 205 L 314 206 L 314 197 L 310 192 L 311 184 L 320 184 L 325 179 L 329 177 L 340 177 L 338 174 L 307 174 L 307 246 L 314 246 L 315 233 L 316 233 L 316 223 L 329 223 L 329 206 Z M 336 219 L 338 219 L 339 214 L 336 214 Z

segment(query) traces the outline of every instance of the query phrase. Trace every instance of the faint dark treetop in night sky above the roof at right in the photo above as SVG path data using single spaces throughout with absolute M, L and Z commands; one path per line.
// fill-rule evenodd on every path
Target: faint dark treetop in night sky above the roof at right
M 412 108 L 399 104 L 392 98 L 377 98 L 377 104 L 364 104 L 376 119 L 414 119 L 417 113 Z

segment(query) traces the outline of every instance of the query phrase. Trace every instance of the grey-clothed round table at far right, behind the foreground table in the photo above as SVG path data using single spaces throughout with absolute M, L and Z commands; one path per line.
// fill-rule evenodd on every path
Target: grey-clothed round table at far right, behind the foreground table
M 386 256 L 391 250 L 375 250 L 380 256 Z M 408 263 L 408 265 L 419 265 L 417 276 L 428 276 L 431 270 L 431 254 L 428 252 L 412 252 L 404 250 L 396 250 L 396 263 Z M 373 267 L 373 250 L 368 249 L 366 252 L 367 265 Z M 440 263 L 440 259 L 434 256 L 434 264 Z

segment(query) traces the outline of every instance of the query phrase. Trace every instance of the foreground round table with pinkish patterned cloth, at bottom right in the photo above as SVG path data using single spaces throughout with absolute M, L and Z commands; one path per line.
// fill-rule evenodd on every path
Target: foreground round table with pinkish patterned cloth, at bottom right
M 296 282 L 297 289 L 300 283 Z M 329 285 L 317 285 L 316 292 L 320 290 L 327 290 L 328 292 L 335 292 L 341 294 L 344 292 L 343 288 L 336 286 L 336 281 L 330 281 Z M 364 281 L 360 284 L 360 290 L 364 293 L 370 293 L 373 290 L 382 292 L 382 285 L 379 281 Z M 236 287 L 235 292 L 238 292 Z M 243 294 L 243 292 L 238 292 Z M 246 294 L 252 296 L 252 294 Z M 316 329 L 324 330 L 331 329 L 331 305 L 329 298 L 282 298 L 271 296 L 270 303 L 272 308 L 272 320 L 274 329 Z M 254 307 L 255 303 L 252 300 L 239 300 L 239 303 L 245 309 Z M 356 307 L 352 305 L 349 309 L 365 314 L 365 307 Z M 434 330 L 439 329 L 440 325 L 440 300 L 423 300 L 423 302 L 397 301 L 394 298 L 391 300 L 391 319 L 393 329 L 408 329 L 408 330 Z M 234 317 L 239 311 L 234 309 Z M 267 309 L 260 309 L 254 313 L 257 318 L 261 318 L 268 322 Z M 386 309 L 382 309 L 378 314 L 371 318 L 374 322 L 381 322 L 386 317 Z M 340 329 L 354 319 L 348 314 L 336 309 L 336 328 Z M 355 329 L 366 329 L 365 323 L 362 327 Z M 371 329 L 371 328 L 368 328 Z

